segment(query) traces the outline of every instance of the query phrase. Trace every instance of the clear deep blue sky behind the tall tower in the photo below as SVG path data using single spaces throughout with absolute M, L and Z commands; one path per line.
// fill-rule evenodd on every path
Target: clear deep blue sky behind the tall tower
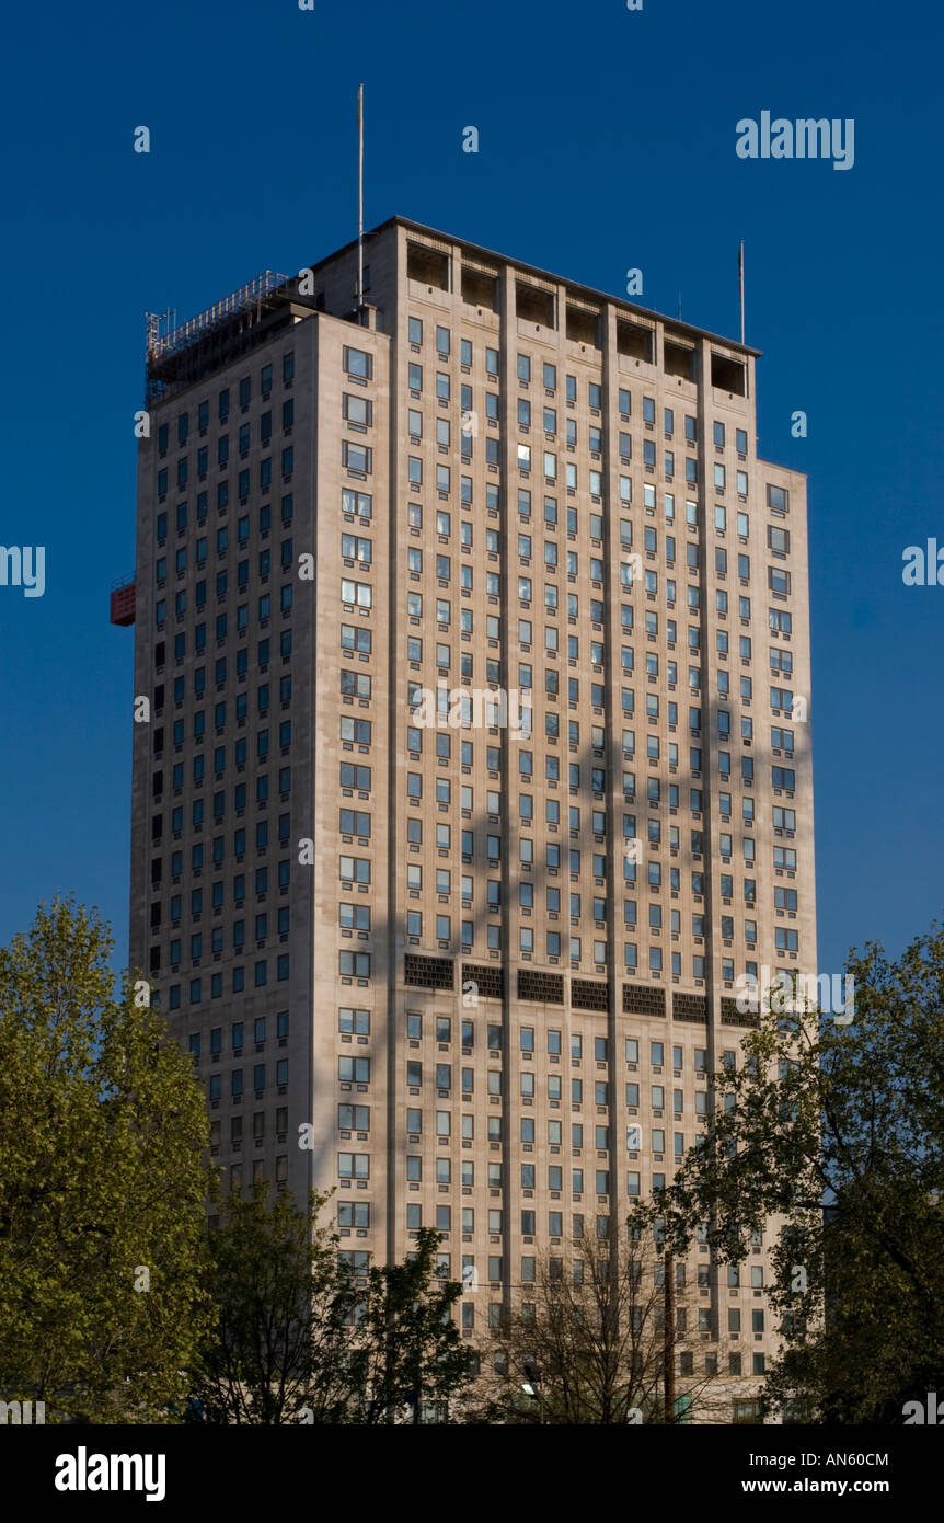
M 646 305 L 681 291 L 720 334 L 746 241 L 760 449 L 810 475 L 819 969 L 938 915 L 944 586 L 904 588 L 901 550 L 944 544 L 942 29 L 915 0 L 17 8 L 0 541 L 44 544 L 47 588 L 0 588 L 0 940 L 75 889 L 125 956 L 132 632 L 108 586 L 134 567 L 143 314 L 353 236 L 359 81 L 368 225 L 614 294 L 639 267 Z M 854 168 L 740 160 L 763 110 L 853 117 Z

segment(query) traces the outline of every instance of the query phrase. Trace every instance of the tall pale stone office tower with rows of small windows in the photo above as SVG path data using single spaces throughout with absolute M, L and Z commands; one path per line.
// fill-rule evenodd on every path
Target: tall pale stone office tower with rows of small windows
M 472 1331 L 671 1176 L 738 976 L 816 967 L 805 490 L 757 350 L 364 259 L 151 323 L 131 959 L 233 1188 L 336 1186 L 355 1266 L 435 1226 Z M 702 1276 L 722 1374 L 767 1246 Z

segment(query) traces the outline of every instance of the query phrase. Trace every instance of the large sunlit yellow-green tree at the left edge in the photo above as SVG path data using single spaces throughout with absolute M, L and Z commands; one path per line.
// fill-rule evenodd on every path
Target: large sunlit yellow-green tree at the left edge
M 206 1314 L 189 1060 L 73 900 L 0 949 L 0 1389 L 49 1422 L 167 1421 Z

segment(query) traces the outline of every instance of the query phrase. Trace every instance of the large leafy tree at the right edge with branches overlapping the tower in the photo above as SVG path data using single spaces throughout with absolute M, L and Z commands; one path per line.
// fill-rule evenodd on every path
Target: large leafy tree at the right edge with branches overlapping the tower
M 906 1401 L 944 1389 L 944 934 L 897 961 L 869 943 L 848 976 L 851 1025 L 760 1013 L 743 1066 L 714 1075 L 700 1144 L 636 1218 L 662 1218 L 676 1252 L 702 1223 L 722 1263 L 783 1218 L 769 1406 L 901 1422 Z

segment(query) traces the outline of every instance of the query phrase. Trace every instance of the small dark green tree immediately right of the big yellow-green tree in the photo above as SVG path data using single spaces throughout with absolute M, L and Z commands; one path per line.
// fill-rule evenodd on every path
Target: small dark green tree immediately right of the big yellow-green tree
M 318 1221 L 327 1197 L 312 1194 L 303 1211 L 289 1194 L 269 1208 L 268 1193 L 257 1182 L 247 1199 L 216 1202 L 207 1244 L 215 1316 L 190 1394 L 209 1422 L 341 1422 L 353 1293 L 338 1235 Z

